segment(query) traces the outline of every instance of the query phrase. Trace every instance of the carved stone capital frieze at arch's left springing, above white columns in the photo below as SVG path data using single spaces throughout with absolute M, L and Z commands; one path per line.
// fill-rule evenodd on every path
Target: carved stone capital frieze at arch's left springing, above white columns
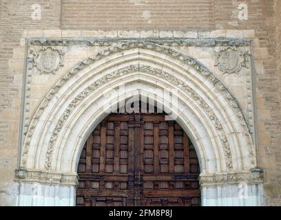
M 47 171 L 26 170 L 25 168 L 19 168 L 16 170 L 16 181 L 77 186 L 78 176 L 73 174 L 50 173 Z

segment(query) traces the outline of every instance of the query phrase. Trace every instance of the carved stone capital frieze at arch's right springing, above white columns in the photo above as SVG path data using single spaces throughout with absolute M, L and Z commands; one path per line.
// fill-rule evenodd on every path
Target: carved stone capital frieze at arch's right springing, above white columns
M 226 184 L 262 184 L 263 171 L 260 168 L 253 168 L 248 172 L 241 173 L 220 173 L 201 174 L 199 177 L 200 186 L 225 186 Z

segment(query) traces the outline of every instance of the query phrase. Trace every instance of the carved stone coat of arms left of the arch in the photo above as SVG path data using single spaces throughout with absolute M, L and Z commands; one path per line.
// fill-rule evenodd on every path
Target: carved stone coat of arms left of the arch
M 41 74 L 54 74 L 59 67 L 63 66 L 63 52 L 53 47 L 44 47 L 33 55 L 34 66 Z

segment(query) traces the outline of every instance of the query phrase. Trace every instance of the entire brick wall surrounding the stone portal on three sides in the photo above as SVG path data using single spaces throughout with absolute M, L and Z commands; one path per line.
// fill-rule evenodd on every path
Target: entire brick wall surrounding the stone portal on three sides
M 32 19 L 34 3 L 41 5 L 39 21 Z M 246 21 L 238 19 L 240 3 L 248 5 Z M 264 168 L 267 204 L 280 205 L 280 14 L 280 0 L 1 0 L 0 205 L 12 205 L 16 190 L 11 183 L 19 145 L 25 58 L 22 37 L 27 33 L 57 36 L 60 30 L 65 30 L 65 36 L 67 30 L 83 30 L 84 35 L 91 36 L 102 36 L 103 32 L 98 30 L 201 30 L 202 36 L 206 30 L 236 30 L 231 36 L 240 36 L 239 30 L 254 30 L 258 38 L 254 42 L 254 58 L 259 166 Z

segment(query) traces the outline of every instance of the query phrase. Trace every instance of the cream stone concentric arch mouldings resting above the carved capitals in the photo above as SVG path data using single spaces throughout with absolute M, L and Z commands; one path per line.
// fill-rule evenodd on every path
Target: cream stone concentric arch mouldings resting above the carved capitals
M 202 143 L 199 143 L 203 137 L 198 134 L 196 137 L 199 126 L 194 126 L 194 131 L 191 131 L 192 125 L 196 123 L 193 124 L 187 118 L 184 120 L 187 113 L 182 113 L 179 119 L 182 124 L 189 122 L 189 126 L 187 124 L 183 126 L 188 133 L 194 135 L 194 142 L 198 142 L 194 144 L 197 146 L 198 154 L 201 155 L 200 165 L 205 166 L 203 169 L 201 167 L 203 172 L 228 172 L 256 165 L 254 146 L 238 103 L 206 67 L 171 48 L 155 43 L 128 42 L 86 58 L 52 87 L 30 123 L 23 146 L 22 166 L 62 170 L 63 168 L 56 164 L 63 160 L 60 153 L 64 152 L 63 143 L 67 142 L 67 138 L 71 139 L 70 137 L 79 138 L 79 144 L 77 140 L 73 140 L 79 146 L 75 149 L 73 146 L 72 149 L 76 156 L 79 154 L 78 149 L 85 139 L 85 133 L 89 131 L 75 135 L 70 133 L 73 132 L 72 126 L 79 121 L 79 117 L 81 118 L 87 108 L 90 108 L 90 104 L 93 105 L 94 100 L 100 97 L 97 91 L 107 91 L 120 83 L 134 83 L 136 78 L 154 87 L 174 87 L 180 91 L 180 100 L 190 113 L 196 115 L 197 119 L 194 121 L 198 120 L 203 124 L 205 134 L 209 135 L 205 138 L 210 139 L 209 144 L 212 144 L 210 147 L 213 148 L 216 160 L 220 164 L 216 164 L 212 169 L 202 165 L 208 164 L 212 157 L 211 153 L 204 150 Z M 134 92 L 134 89 L 130 91 Z M 90 104 L 85 104 L 86 100 Z M 103 115 L 101 109 L 96 109 L 96 115 L 100 117 Z M 96 123 L 97 118 L 98 116 L 90 120 L 92 124 Z M 89 126 L 87 129 L 94 128 Z M 248 147 L 245 149 L 244 145 Z M 220 153 L 222 151 L 220 146 L 223 155 Z M 34 155 L 39 156 L 32 159 Z M 56 158 L 56 162 L 52 161 L 53 158 Z M 42 159 L 43 166 L 39 162 Z M 73 173 L 74 166 L 67 171 Z

